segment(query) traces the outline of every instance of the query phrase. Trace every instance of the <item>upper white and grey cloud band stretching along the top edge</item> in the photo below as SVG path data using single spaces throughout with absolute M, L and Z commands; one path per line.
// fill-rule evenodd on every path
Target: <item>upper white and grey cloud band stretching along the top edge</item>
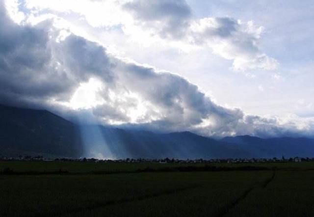
M 230 17 L 197 19 L 185 0 L 26 0 L 26 7 L 35 11 L 32 16 L 47 10 L 67 18 L 65 14 L 76 13 L 92 27 L 121 30 L 144 46 L 210 49 L 232 60 L 235 71 L 274 70 L 279 65 L 259 47 L 263 27 Z

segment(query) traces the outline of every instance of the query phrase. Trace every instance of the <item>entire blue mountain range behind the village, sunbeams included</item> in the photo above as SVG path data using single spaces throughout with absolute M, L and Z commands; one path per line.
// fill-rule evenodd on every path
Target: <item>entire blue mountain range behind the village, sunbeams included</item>
M 225 137 L 190 132 L 157 134 L 98 125 L 79 126 L 46 110 L 0 106 L 0 156 L 95 158 L 314 157 L 312 138 Z

